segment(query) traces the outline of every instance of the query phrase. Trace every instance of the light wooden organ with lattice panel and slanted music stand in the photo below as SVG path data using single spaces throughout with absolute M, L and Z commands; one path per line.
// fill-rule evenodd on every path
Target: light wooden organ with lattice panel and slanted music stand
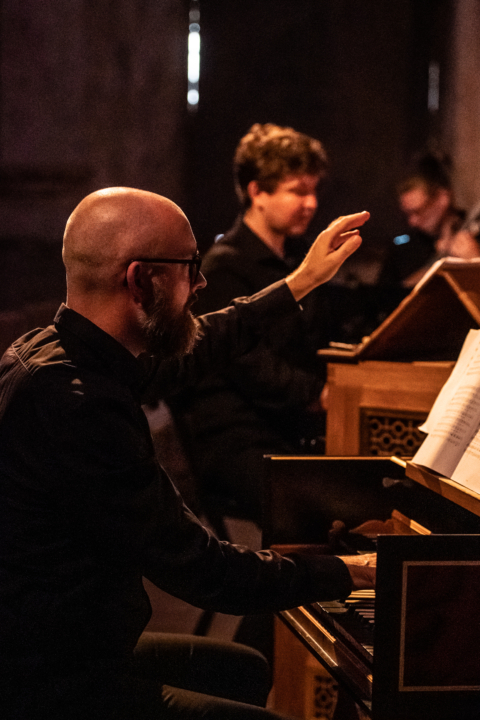
M 327 455 L 411 457 L 471 328 L 480 327 L 480 260 L 436 263 L 357 346 L 328 363 Z

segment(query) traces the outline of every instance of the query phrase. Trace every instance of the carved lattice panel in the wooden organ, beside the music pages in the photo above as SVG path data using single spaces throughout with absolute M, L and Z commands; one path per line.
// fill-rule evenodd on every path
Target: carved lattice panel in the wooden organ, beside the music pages
M 418 429 L 425 413 L 360 408 L 360 454 L 412 457 L 425 433 Z

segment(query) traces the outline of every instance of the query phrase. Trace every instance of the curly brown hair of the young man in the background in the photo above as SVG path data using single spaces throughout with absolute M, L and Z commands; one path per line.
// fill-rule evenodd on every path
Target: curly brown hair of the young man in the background
M 257 123 L 236 149 L 235 189 L 247 209 L 251 204 L 247 188 L 252 180 L 260 190 L 271 193 L 288 175 L 324 175 L 327 165 L 327 154 L 318 140 L 293 128 Z

